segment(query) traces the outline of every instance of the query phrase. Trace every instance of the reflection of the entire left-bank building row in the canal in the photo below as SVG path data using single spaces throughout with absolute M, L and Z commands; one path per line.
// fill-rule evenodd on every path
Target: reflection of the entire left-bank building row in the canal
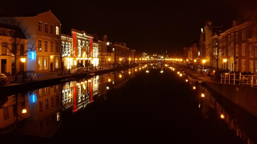
M 141 67 L 116 71 L 2 98 L 0 133 L 16 130 L 25 135 L 52 137 L 61 125 L 63 112 L 74 114 L 100 96 L 105 100 L 108 90 L 124 87 L 140 70 Z

